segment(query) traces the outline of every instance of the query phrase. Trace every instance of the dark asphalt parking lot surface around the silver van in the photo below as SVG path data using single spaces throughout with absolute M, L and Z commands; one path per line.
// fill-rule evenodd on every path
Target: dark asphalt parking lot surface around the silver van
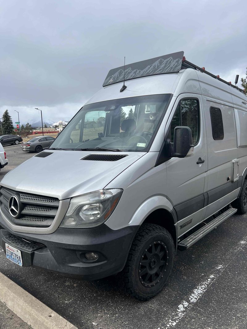
M 5 146 L 0 179 L 35 153 Z M 59 173 L 58 173 L 59 174 Z M 19 267 L 0 251 L 0 271 L 78 328 L 247 328 L 247 215 L 233 215 L 187 251 L 178 251 L 165 289 L 139 302 L 118 276 L 85 282 Z M 1 325 L 0 325 L 1 327 Z

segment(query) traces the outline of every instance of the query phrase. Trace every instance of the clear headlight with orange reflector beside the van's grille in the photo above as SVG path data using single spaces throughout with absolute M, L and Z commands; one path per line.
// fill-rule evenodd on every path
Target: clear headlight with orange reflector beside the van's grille
M 112 214 L 122 193 L 122 189 L 106 189 L 71 198 L 60 227 L 92 228 L 99 226 Z

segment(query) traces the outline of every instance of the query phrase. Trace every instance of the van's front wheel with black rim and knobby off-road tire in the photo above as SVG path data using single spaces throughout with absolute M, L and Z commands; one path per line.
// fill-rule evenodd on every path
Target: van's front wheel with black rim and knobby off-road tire
M 171 234 L 155 224 L 143 224 L 131 245 L 126 265 L 119 274 L 125 292 L 146 301 L 157 295 L 171 274 L 175 246 Z

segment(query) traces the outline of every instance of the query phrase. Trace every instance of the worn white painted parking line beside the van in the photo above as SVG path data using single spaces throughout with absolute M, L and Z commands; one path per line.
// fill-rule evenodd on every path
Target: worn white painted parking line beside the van
M 233 253 L 231 259 L 235 257 L 245 246 L 247 245 L 247 236 L 245 236 L 241 241 L 237 243 L 237 247 L 234 250 L 231 250 Z M 190 295 L 186 296 L 184 300 L 179 303 L 175 312 L 168 316 L 163 322 L 162 325 L 159 325 L 158 328 L 170 329 L 185 316 L 189 309 L 199 300 L 199 298 L 206 292 L 208 287 L 221 275 L 221 273 L 227 268 L 231 261 L 226 264 L 219 264 L 211 272 L 208 278 L 200 283 Z

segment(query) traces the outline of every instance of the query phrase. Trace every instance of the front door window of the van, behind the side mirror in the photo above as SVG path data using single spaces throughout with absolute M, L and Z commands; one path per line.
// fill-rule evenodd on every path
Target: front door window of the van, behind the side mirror
M 174 129 L 177 126 L 186 126 L 191 129 L 192 142 L 196 145 L 200 137 L 200 114 L 197 99 L 181 99 L 171 122 L 171 137 L 173 142 Z

